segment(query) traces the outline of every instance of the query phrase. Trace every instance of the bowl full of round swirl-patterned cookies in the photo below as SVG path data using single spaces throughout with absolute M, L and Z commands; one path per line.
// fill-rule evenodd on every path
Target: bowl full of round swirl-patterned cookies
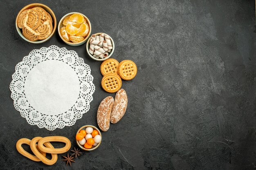
M 54 12 L 44 4 L 34 3 L 22 8 L 16 17 L 20 37 L 34 44 L 47 41 L 56 30 Z

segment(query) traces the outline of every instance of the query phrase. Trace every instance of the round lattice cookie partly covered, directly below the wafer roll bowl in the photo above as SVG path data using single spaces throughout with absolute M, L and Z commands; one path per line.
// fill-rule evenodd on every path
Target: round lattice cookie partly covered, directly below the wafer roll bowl
M 105 76 L 109 73 L 117 74 L 119 62 L 116 59 L 106 59 L 101 63 L 101 74 Z

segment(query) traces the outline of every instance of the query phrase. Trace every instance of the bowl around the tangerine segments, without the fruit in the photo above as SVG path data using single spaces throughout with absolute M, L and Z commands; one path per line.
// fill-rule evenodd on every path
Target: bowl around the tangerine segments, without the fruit
M 85 42 L 87 41 L 87 39 L 90 37 L 91 31 L 92 31 L 91 23 L 90 23 L 89 19 L 88 19 L 85 15 L 83 15 L 82 13 L 79 13 L 79 14 L 83 15 L 83 17 L 85 18 L 85 20 L 88 22 L 88 25 L 89 25 L 89 33 L 88 33 L 88 35 L 85 37 L 85 39 L 84 39 L 83 41 L 78 42 L 78 43 L 73 43 L 72 41 L 66 41 L 65 39 L 63 39 L 63 37 L 61 36 L 61 32 L 60 32 L 61 28 L 64 26 L 64 25 L 63 25 L 63 20 L 65 20 L 66 17 L 68 17 L 68 16 L 70 16 L 70 15 L 72 15 L 72 14 L 74 14 L 74 13 L 78 13 L 78 12 L 71 12 L 71 13 L 68 13 L 68 14 L 64 15 L 64 16 L 61 18 L 60 22 L 58 23 L 58 35 L 60 35 L 61 39 L 62 39 L 66 44 L 68 44 L 68 45 L 70 45 L 70 46 L 81 46 L 82 44 L 85 44 Z

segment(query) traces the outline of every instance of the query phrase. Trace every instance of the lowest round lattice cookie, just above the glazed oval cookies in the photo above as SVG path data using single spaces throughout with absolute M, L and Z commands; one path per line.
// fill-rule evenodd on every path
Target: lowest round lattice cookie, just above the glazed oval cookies
M 117 92 L 122 86 L 122 80 L 118 74 L 106 74 L 101 80 L 102 88 L 109 93 Z

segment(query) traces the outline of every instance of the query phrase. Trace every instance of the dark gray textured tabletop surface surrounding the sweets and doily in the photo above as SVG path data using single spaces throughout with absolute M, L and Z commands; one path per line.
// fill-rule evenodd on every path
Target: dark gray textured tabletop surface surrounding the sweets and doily
M 76 131 L 97 125 L 100 62 L 85 45 L 64 44 L 57 31 L 43 44 L 19 37 L 16 15 L 32 1 L 0 3 L 0 169 L 254 169 L 256 164 L 256 34 L 254 0 L 40 1 L 57 22 L 81 12 L 92 33 L 115 41 L 112 58 L 131 59 L 137 76 L 123 81 L 128 109 L 102 133 L 101 146 L 83 152 L 72 168 L 58 155 L 53 166 L 16 151 L 20 138 L 63 135 L 75 144 Z M 69 2 L 70 4 L 67 4 Z M 33 49 L 57 45 L 75 50 L 89 64 L 96 90 L 91 109 L 63 129 L 31 126 L 13 107 L 9 84 L 15 66 Z M 57 146 L 57 145 L 55 145 Z M 66 155 L 66 154 L 65 154 Z

